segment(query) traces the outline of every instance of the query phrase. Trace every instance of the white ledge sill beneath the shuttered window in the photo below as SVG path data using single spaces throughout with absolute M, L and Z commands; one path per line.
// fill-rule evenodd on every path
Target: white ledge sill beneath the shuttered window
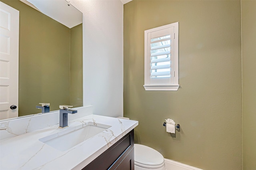
M 168 85 L 143 85 L 146 91 L 178 91 L 180 85 L 168 84 Z

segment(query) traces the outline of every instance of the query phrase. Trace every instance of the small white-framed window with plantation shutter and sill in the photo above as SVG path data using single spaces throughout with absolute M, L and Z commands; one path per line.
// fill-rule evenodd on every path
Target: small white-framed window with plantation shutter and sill
M 178 90 L 178 27 L 175 22 L 144 32 L 145 90 Z

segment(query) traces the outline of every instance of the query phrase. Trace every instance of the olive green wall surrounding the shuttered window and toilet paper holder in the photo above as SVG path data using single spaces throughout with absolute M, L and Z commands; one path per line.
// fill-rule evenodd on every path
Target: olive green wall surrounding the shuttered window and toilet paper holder
M 178 91 L 144 90 L 144 30 L 179 22 Z M 204 170 L 242 169 L 240 1 L 124 4 L 124 116 L 135 142 Z M 164 119 L 180 124 L 166 132 Z

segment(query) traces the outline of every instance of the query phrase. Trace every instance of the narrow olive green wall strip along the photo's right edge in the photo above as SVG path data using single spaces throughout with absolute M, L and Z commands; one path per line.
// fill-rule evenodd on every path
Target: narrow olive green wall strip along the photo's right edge
M 256 168 L 256 1 L 242 0 L 243 168 Z

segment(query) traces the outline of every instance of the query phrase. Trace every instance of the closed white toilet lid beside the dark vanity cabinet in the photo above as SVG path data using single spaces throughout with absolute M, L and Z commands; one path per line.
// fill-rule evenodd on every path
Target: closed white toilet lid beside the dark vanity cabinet
M 144 165 L 160 165 L 164 157 L 158 151 L 142 144 L 134 144 L 134 161 Z

